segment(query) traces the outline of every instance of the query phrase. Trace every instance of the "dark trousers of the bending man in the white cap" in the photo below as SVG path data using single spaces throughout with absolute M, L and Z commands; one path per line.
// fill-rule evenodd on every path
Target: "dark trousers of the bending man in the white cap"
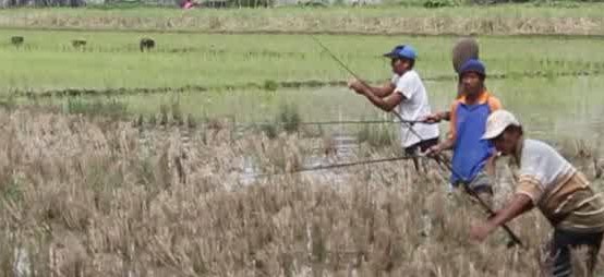
M 570 251 L 579 246 L 588 248 L 585 267 L 588 276 L 593 276 L 597 260 L 597 252 L 602 244 L 603 232 L 579 233 L 561 229 L 554 230 L 554 237 L 547 245 L 546 261 L 542 265 L 542 273 L 552 277 L 569 277 L 572 275 Z

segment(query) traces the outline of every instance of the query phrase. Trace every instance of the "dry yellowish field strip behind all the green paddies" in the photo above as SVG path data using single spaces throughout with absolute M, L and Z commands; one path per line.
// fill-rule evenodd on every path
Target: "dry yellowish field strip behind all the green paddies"
M 495 7 L 276 9 L 16 9 L 0 27 L 217 33 L 604 35 L 604 4 L 551 2 Z

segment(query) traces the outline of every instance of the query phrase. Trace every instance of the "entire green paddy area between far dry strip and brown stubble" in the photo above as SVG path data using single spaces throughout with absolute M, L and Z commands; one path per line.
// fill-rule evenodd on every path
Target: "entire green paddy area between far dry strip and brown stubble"
M 0 48 L 0 59 L 7 61 L 0 67 L 0 84 L 9 94 L 81 92 L 83 101 L 112 99 L 131 115 L 144 117 L 177 103 L 183 115 L 234 117 L 242 123 L 270 120 L 282 104 L 295 105 L 305 121 L 382 117 L 342 87 L 350 75 L 310 36 L 0 31 L 0 36 L 13 35 L 26 40 L 20 47 Z M 157 47 L 141 52 L 138 40 L 147 36 Z M 413 45 L 420 52 L 416 70 L 426 80 L 434 109 L 448 107 L 455 87 L 450 48 L 457 37 L 317 37 L 359 75 L 374 82 L 385 82 L 391 74 L 380 53 L 397 44 Z M 85 39 L 87 45 L 75 49 L 73 39 Z M 490 88 L 507 107 L 539 123 L 540 132 L 576 112 L 587 122 L 578 130 L 601 122 L 600 39 L 481 36 L 479 43 L 493 76 Z M 292 84 L 293 88 L 282 87 Z M 95 94 L 104 96 L 88 97 Z

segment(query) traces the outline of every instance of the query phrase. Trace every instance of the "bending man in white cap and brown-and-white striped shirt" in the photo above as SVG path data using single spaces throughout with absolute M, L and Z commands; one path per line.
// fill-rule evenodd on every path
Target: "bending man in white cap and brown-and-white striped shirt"
M 588 246 L 585 264 L 592 276 L 604 233 L 604 202 L 587 178 L 552 146 L 524 138 L 522 127 L 506 110 L 491 113 L 483 140 L 511 156 L 519 168 L 515 196 L 486 222 L 474 226 L 472 238 L 484 240 L 498 226 L 537 207 L 554 227 L 547 245 L 546 276 L 572 275 L 570 250 Z

